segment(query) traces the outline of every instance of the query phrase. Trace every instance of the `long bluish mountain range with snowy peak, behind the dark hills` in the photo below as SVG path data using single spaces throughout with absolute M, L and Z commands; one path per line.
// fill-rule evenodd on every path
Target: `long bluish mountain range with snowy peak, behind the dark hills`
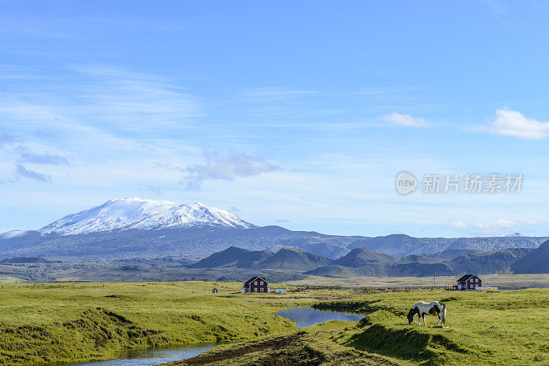
M 136 197 L 111 199 L 100 206 L 62 217 L 40 230 L 13 230 L 0 234 L 0 258 L 182 256 L 195 261 L 233 245 L 270 252 L 295 247 L 332 260 L 346 256 L 356 248 L 397 258 L 439 253 L 439 256 L 453 259 L 467 252 L 516 247 L 535 249 L 548 239 L 535 236 L 330 235 L 292 231 L 276 225 L 259 227 L 231 212 L 200 203 L 185 205 Z

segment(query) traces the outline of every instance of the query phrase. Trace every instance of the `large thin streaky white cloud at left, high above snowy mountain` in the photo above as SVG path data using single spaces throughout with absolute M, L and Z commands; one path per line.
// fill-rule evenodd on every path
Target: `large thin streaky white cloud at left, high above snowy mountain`
M 37 77 L 43 79 L 32 84 L 19 80 L 22 86 L 5 92 L 0 114 L 39 129 L 40 137 L 84 129 L 127 136 L 129 131 L 200 127 L 191 121 L 201 115 L 198 98 L 163 77 L 95 64 L 74 66 L 71 77 L 60 75 L 54 88 L 49 76 Z

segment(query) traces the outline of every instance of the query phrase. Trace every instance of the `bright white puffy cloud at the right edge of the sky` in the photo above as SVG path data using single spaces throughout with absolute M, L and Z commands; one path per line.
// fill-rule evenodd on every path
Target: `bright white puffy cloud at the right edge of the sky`
M 527 119 L 514 110 L 498 110 L 488 131 L 503 136 L 541 140 L 549 136 L 549 122 Z

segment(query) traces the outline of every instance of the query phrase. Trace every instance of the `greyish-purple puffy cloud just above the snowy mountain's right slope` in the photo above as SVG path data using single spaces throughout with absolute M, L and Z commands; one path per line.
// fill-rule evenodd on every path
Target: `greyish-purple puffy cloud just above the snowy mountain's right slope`
M 264 159 L 254 158 L 244 153 L 223 156 L 210 153 L 205 156 L 205 164 L 190 164 L 179 170 L 183 172 L 182 182 L 189 190 L 196 190 L 206 180 L 233 180 L 238 177 L 251 177 L 279 169 Z

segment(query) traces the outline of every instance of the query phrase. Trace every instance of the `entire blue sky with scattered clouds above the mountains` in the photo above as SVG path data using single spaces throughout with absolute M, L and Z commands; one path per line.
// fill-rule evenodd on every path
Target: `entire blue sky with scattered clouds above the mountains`
M 377 236 L 549 232 L 549 7 L 2 1 L 0 232 L 117 197 Z M 395 176 L 522 173 L 517 194 Z

